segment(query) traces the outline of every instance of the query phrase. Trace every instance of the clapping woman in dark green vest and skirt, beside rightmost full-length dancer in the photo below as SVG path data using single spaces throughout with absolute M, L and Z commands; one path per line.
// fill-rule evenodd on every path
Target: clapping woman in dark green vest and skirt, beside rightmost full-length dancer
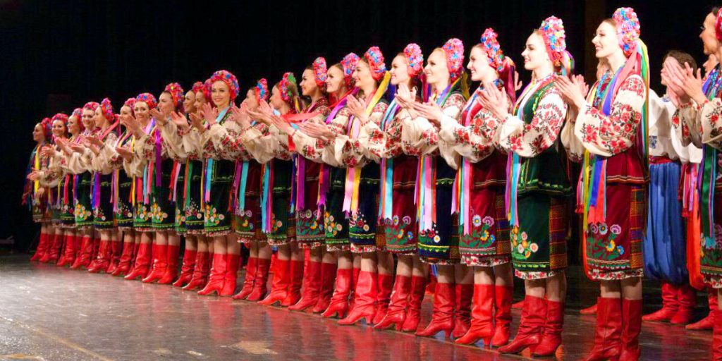
M 526 298 L 521 326 L 503 353 L 552 355 L 561 343 L 567 266 L 566 197 L 571 193 L 565 155 L 558 143 L 567 105 L 555 86 L 556 72 L 567 70 L 562 20 L 549 17 L 526 40 L 521 55 L 532 82 L 509 113 L 508 95 L 484 87 L 482 107 L 503 119 L 500 144 L 509 153 L 507 199 L 511 256 L 524 279 Z

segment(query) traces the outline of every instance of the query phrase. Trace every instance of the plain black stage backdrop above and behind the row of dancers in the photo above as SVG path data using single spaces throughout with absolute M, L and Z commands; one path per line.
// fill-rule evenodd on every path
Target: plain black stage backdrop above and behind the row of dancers
M 722 4 L 722 1 L 720 1 Z M 300 76 L 316 56 L 329 64 L 378 45 L 387 64 L 407 43 L 425 54 L 448 38 L 467 53 L 486 27 L 518 64 L 531 30 L 556 15 L 565 22 L 577 72 L 593 79 L 591 38 L 617 6 L 638 12 L 648 44 L 653 87 L 660 58 L 671 48 L 704 60 L 697 38 L 712 1 L 19 1 L 0 0 L 0 238 L 17 248 L 37 228 L 19 205 L 32 127 L 44 116 L 70 113 L 87 100 L 110 97 L 119 107 L 165 84 L 190 87 L 217 69 L 232 71 L 243 89 L 284 71 Z M 674 5 L 674 6 L 673 6 Z M 521 69 L 522 79 L 529 74 Z

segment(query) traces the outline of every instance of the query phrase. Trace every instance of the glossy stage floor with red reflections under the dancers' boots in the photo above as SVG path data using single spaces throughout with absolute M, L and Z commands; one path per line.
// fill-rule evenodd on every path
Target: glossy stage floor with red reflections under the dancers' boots
M 573 292 L 573 290 L 570 290 Z M 586 291 L 585 291 L 586 292 Z M 646 292 L 645 292 L 646 293 Z M 592 292 L 591 297 L 595 297 Z M 430 318 L 431 297 L 422 324 Z M 514 327 L 519 312 L 514 311 Z M 594 316 L 567 310 L 558 360 L 591 349 Z M 516 333 L 516 330 L 514 331 Z M 644 323 L 643 360 L 709 360 L 711 332 Z M 0 257 L 0 360 L 520 360 L 309 313 Z

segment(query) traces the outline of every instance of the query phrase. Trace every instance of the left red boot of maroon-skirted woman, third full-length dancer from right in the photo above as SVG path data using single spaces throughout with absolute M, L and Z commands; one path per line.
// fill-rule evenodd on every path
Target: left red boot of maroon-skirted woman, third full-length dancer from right
M 464 336 L 454 342 L 457 344 L 475 344 L 484 340 L 484 347 L 491 347 L 494 336 L 492 310 L 494 309 L 494 285 L 474 284 L 474 298 L 471 302 L 471 326 Z

